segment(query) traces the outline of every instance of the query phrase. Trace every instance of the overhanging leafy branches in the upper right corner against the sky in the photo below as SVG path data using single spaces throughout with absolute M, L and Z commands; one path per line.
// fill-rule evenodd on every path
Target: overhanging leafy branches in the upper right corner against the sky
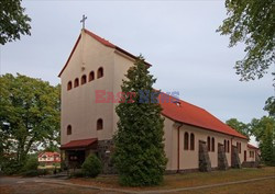
M 243 42 L 245 57 L 237 61 L 241 80 L 262 78 L 275 61 L 274 28 L 275 5 L 273 0 L 226 0 L 228 18 L 217 30 L 230 35 L 229 46 Z

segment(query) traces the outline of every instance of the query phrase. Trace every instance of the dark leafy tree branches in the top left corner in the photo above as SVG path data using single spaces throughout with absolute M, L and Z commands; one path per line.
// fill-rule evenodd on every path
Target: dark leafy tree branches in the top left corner
M 0 1 L 0 44 L 20 39 L 21 35 L 31 35 L 31 19 L 24 14 L 21 0 Z

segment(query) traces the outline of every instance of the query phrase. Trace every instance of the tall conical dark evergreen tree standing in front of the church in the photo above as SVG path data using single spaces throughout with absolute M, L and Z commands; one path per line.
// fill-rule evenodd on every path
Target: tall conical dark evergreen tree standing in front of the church
M 160 184 L 167 159 L 163 144 L 162 107 L 156 103 L 158 93 L 152 87 L 156 79 L 148 73 L 142 56 L 125 77 L 121 85 L 121 102 L 116 107 L 119 122 L 113 159 L 119 180 L 130 186 Z M 151 94 L 147 102 L 143 102 L 143 92 Z

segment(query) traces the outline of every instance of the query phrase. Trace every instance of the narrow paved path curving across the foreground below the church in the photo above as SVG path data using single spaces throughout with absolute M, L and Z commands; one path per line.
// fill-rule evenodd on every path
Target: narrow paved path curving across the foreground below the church
M 79 184 L 68 183 L 65 180 L 56 180 L 56 179 L 53 180 L 53 179 L 41 179 L 41 178 L 32 178 L 32 179 L 0 178 L 0 186 L 1 186 L 1 184 L 3 185 L 3 184 L 14 184 L 14 183 L 16 183 L 16 184 L 41 183 L 41 184 L 47 184 L 47 185 L 64 185 L 66 187 L 74 187 L 74 189 L 85 189 L 85 190 L 89 190 L 90 192 L 94 191 L 96 193 L 161 194 L 161 193 L 176 193 L 176 192 L 183 192 L 183 191 L 211 189 L 211 187 L 217 187 L 217 186 L 250 183 L 250 182 L 256 182 L 256 181 L 270 180 L 270 179 L 275 179 L 275 176 L 249 179 L 249 180 L 242 180 L 242 181 L 218 183 L 218 184 L 210 184 L 210 185 L 201 185 L 201 186 L 191 186 L 191 187 L 172 189 L 172 190 L 155 190 L 155 191 L 130 191 L 130 190 L 120 190 L 120 189 L 103 189 L 103 187 L 98 187 L 98 186 L 79 185 Z

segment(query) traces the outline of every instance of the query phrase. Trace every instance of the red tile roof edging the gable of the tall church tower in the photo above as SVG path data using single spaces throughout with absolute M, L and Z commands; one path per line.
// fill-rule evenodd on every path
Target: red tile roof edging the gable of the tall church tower
M 98 41 L 99 43 L 103 44 L 105 46 L 108 46 L 108 47 L 110 47 L 110 48 L 114 48 L 114 49 L 117 49 L 117 50 L 119 50 L 119 52 L 125 54 L 127 56 L 129 56 L 129 57 L 131 57 L 131 58 L 133 58 L 133 59 L 136 59 L 136 56 L 130 54 L 129 52 L 122 49 L 121 47 L 119 47 L 119 46 L 117 46 L 117 45 L 113 45 L 112 43 L 110 43 L 109 41 L 107 41 L 107 39 L 105 39 L 105 38 L 98 36 L 97 34 L 95 34 L 95 33 L 92 33 L 92 32 L 90 32 L 90 31 L 88 31 L 88 30 L 86 30 L 86 28 L 84 30 L 84 32 L 85 32 L 86 34 L 88 34 L 89 36 L 91 36 L 92 38 L 95 38 L 96 41 Z M 79 43 L 80 39 L 81 39 L 81 34 L 78 36 L 78 38 L 77 38 L 77 41 L 76 41 L 76 44 L 75 44 L 75 46 L 74 46 L 74 48 L 73 48 L 73 50 L 72 50 L 72 53 L 70 53 L 70 55 L 69 55 L 69 57 L 68 57 L 68 59 L 67 59 L 67 61 L 66 61 L 66 64 L 65 64 L 65 66 L 63 67 L 62 71 L 59 72 L 58 77 L 61 77 L 62 73 L 63 73 L 63 71 L 66 69 L 66 67 L 67 67 L 67 65 L 68 65 L 68 62 L 69 62 L 69 60 L 70 60 L 70 58 L 72 58 L 72 56 L 73 56 L 73 54 L 74 54 L 74 52 L 75 52 L 75 49 L 76 49 L 76 47 L 77 47 L 77 45 L 78 45 L 78 43 Z M 151 64 L 148 64 L 148 62 L 146 62 L 146 61 L 145 61 L 145 64 L 146 64 L 147 66 L 152 66 Z

